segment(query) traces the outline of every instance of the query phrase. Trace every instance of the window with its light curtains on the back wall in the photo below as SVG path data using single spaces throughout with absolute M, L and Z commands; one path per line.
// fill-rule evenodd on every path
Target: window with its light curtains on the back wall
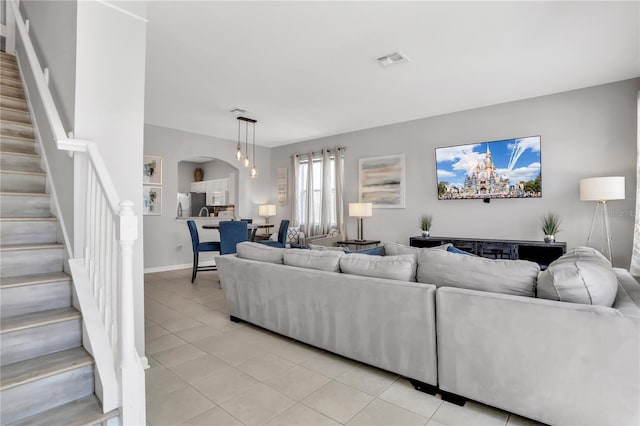
M 344 148 L 293 156 L 293 222 L 307 236 L 340 232 L 343 224 Z

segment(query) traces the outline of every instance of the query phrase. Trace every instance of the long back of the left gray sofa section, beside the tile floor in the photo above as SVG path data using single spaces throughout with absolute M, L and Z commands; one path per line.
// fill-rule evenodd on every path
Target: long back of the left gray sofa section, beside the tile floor
M 231 317 L 437 386 L 435 286 L 235 255 L 216 263 Z

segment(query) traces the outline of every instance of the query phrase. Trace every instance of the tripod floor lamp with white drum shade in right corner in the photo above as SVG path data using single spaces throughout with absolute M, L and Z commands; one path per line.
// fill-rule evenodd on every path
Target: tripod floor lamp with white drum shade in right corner
M 580 180 L 580 199 L 582 201 L 596 201 L 596 208 L 591 219 L 591 229 L 587 237 L 587 246 L 593 236 L 593 228 L 598 216 L 598 210 L 602 210 L 602 229 L 604 240 L 609 251 L 609 261 L 613 264 L 611 252 L 611 233 L 609 232 L 609 213 L 607 201 L 624 200 L 624 176 L 597 177 Z

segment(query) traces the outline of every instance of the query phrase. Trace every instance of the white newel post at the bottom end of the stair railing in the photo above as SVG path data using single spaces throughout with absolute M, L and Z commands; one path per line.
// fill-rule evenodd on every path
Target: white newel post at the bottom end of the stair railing
M 138 239 L 138 218 L 133 202 L 120 203 L 120 374 L 122 424 L 145 425 L 144 370 L 135 343 L 133 312 L 133 244 Z

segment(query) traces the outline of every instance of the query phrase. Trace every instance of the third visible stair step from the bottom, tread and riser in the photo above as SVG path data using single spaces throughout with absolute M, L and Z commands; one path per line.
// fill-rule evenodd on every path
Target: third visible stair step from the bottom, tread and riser
M 82 342 L 80 312 L 74 308 L 2 318 L 0 365 L 76 348 Z

